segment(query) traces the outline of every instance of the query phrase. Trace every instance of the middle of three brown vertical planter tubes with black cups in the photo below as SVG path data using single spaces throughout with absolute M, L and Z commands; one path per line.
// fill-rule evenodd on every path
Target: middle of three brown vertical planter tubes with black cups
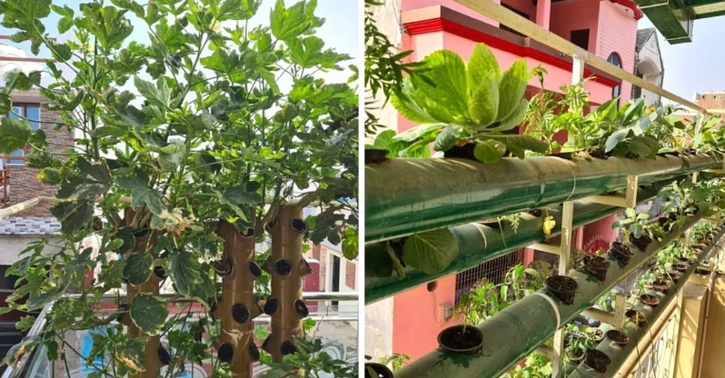
M 219 360 L 231 365 L 233 377 L 249 378 L 252 364 L 259 360 L 252 320 L 262 313 L 254 299 L 254 280 L 262 274 L 254 261 L 255 227 L 239 232 L 233 224 L 222 221 L 218 234 L 224 239 L 224 252 L 217 266 L 222 276 L 222 299 L 217 306 L 221 344 L 217 354 Z

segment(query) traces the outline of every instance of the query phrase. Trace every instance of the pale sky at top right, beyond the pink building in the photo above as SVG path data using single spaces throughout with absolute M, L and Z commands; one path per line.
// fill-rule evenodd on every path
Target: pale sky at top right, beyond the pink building
M 651 28 L 643 17 L 639 29 Z M 658 33 L 665 66 L 663 87 L 693 100 L 695 92 L 725 91 L 725 17 L 695 20 L 692 42 L 670 45 Z

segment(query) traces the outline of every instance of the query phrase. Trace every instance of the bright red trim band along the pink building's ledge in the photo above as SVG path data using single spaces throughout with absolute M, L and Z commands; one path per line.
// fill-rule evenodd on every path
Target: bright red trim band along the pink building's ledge
M 617 1 L 627 1 L 627 0 L 617 0 Z M 459 25 L 459 24 L 449 21 L 449 20 L 444 20 L 444 19 L 438 18 L 438 19 L 434 19 L 434 20 L 413 22 L 410 24 L 406 24 L 405 28 L 406 28 L 408 34 L 410 34 L 410 35 L 428 34 L 428 33 L 435 33 L 435 32 L 441 32 L 441 31 L 455 34 L 459 37 L 463 37 L 463 38 L 469 39 L 471 41 L 485 43 L 489 47 L 503 50 L 503 51 L 518 55 L 520 57 L 536 59 L 540 62 L 551 64 L 552 66 L 561 68 L 563 70 L 567 70 L 567 71 L 572 70 L 571 62 L 567 62 L 566 60 L 551 56 L 549 54 L 546 54 L 546 53 L 536 50 L 536 49 L 532 49 L 530 47 L 519 46 L 519 45 L 511 43 L 509 41 L 505 41 L 505 40 L 497 38 L 495 36 L 482 33 L 478 30 L 474 30 L 474 29 L 468 28 L 466 26 Z M 620 83 L 618 83 L 614 80 L 610 80 L 610 79 L 607 79 L 604 77 L 594 76 L 594 74 L 592 74 L 592 72 L 587 69 L 584 70 L 584 77 L 585 78 L 591 77 L 597 83 L 604 84 L 611 88 L 614 88 L 614 87 L 620 85 Z

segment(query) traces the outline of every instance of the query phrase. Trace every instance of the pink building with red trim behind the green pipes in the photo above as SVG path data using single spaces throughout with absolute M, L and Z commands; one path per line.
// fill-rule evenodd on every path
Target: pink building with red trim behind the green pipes
M 413 50 L 411 59 L 420 60 L 434 51 L 447 49 L 468 59 L 478 43 L 485 43 L 507 69 L 516 59 L 525 58 L 529 67 L 541 65 L 548 71 L 545 89 L 560 92 L 559 87 L 571 84 L 572 61 L 528 37 L 521 36 L 453 0 L 397 0 L 402 9 L 403 51 Z M 481 0 L 490 1 L 490 0 Z M 493 0 L 545 29 L 607 59 L 628 71 L 635 66 L 637 20 L 641 12 L 631 0 Z M 388 0 L 388 3 L 395 1 Z M 388 7 L 391 5 L 388 4 Z M 631 84 L 601 71 L 587 67 L 586 85 L 594 104 L 616 97 L 629 101 Z M 529 84 L 528 96 L 539 91 L 537 79 Z M 398 132 L 413 123 L 398 116 Z M 592 224 L 576 233 L 580 249 L 608 245 L 616 237 L 611 230 L 611 218 Z M 519 262 L 528 263 L 533 251 L 520 251 L 489 261 L 457 275 L 437 281 L 429 291 L 425 286 L 407 291 L 367 307 L 368 334 L 379 335 L 368 340 L 366 353 L 385 356 L 403 353 L 413 359 L 437 348 L 436 335 L 443 329 L 460 323 L 450 309 L 457 297 L 477 279 L 503 279 L 506 270 Z M 538 255 L 537 255 L 538 258 Z

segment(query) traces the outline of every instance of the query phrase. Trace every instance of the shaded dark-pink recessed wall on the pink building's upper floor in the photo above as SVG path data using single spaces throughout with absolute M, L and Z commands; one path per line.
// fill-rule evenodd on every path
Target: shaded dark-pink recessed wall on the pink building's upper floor
M 589 29 L 589 51 L 596 52 L 598 16 L 598 0 L 568 0 L 552 3 L 549 30 L 569 41 L 573 30 Z

